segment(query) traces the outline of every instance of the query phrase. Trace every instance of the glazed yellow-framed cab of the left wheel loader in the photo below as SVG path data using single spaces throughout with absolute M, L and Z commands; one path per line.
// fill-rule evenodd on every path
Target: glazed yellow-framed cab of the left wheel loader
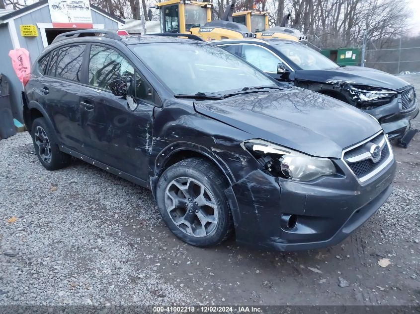
M 168 0 L 158 2 L 161 31 L 163 33 L 190 33 L 190 29 L 201 27 L 211 21 L 213 4 L 190 0 Z

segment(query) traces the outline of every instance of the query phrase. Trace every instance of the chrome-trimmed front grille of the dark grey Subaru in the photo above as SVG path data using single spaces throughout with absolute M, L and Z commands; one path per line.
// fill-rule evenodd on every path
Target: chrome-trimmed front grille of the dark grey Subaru
M 379 168 L 384 168 L 385 163 L 389 162 L 388 157 L 392 152 L 385 136 L 384 133 L 380 133 L 368 141 L 344 152 L 344 162 L 360 181 L 365 181 L 370 177 L 373 177 L 374 173 L 380 171 Z M 381 155 L 380 157 L 377 156 L 374 158 L 370 153 L 370 149 L 376 145 L 378 145 L 377 148 L 379 148 Z M 370 174 L 372 175 L 369 176 Z

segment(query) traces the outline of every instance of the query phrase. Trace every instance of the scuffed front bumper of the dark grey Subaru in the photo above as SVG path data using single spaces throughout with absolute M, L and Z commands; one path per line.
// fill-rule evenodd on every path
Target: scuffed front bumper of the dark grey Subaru
M 395 169 L 393 160 L 380 175 L 363 185 L 345 167 L 342 176 L 324 177 L 312 183 L 253 171 L 227 191 L 237 241 L 276 251 L 336 245 L 387 200 Z M 284 222 L 289 215 L 297 219 L 292 229 Z

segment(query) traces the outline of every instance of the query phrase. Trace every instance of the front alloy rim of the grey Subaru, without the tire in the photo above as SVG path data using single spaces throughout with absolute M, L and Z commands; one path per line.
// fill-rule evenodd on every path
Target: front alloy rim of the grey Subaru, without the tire
M 168 184 L 165 205 L 173 223 L 183 233 L 205 237 L 217 227 L 219 213 L 212 193 L 192 178 L 177 178 Z

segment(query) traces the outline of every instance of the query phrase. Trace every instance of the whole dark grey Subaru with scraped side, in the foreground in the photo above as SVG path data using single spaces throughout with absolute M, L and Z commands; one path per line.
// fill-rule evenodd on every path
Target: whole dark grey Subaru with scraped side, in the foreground
M 196 246 L 233 231 L 265 249 L 331 246 L 392 190 L 374 118 L 193 35 L 65 33 L 35 61 L 23 100 L 46 169 L 73 156 L 150 188 L 168 228 Z

